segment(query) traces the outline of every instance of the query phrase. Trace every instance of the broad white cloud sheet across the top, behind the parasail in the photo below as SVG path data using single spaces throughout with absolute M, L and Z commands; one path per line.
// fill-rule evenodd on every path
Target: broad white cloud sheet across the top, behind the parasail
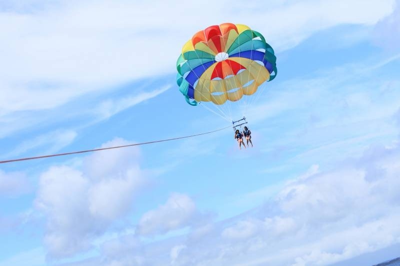
M 389 14 L 393 5 L 392 0 L 379 4 L 305 1 L 256 8 L 264 3 L 243 6 L 221 1 L 212 2 L 212 12 L 208 12 L 210 2 L 204 1 L 186 3 L 185 12 L 176 16 L 174 6 L 178 4 L 162 1 L 30 2 L 27 6 L 35 6 L 36 11 L 12 12 L 14 5 L 10 4 L 0 13 L 0 22 L 4 22 L 0 24 L 7 25 L 0 33 L 0 39 L 7 40 L 0 49 L 5 62 L 0 68 L 0 105 L 8 112 L 48 108 L 90 91 L 171 73 L 181 45 L 193 32 L 231 20 L 233 14 L 234 22 L 247 21 L 282 50 L 338 24 L 374 24 Z M 363 11 L 356 12 L 360 5 Z M 197 12 L 200 9 L 206 15 Z M 104 17 L 108 17 L 106 23 Z M 271 23 L 260 24 L 260 18 Z M 203 21 L 203 26 L 198 21 Z M 27 94 L 30 96 L 21 97 Z M 52 96 L 42 97 L 45 94 Z

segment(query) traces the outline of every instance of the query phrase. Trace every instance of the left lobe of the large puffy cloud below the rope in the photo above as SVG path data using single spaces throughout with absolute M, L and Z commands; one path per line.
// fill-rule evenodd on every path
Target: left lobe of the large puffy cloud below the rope
M 68 256 L 90 247 L 100 225 L 87 210 L 90 184 L 81 172 L 52 167 L 40 177 L 36 207 L 47 217 L 44 242 L 50 255 Z

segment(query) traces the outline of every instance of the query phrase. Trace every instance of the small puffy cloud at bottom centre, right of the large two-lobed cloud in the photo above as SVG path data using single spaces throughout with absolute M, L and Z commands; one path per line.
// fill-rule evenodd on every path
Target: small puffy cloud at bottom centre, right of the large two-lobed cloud
M 190 225 L 195 214 L 195 204 L 187 195 L 173 193 L 165 204 L 140 218 L 136 232 L 143 236 L 163 234 Z

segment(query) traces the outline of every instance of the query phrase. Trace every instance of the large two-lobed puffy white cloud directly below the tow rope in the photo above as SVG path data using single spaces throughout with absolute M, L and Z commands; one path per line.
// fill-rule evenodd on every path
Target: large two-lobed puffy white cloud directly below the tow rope
M 104 146 L 127 144 L 114 139 Z M 40 176 L 35 205 L 47 220 L 45 244 L 52 257 L 87 250 L 115 219 L 130 210 L 144 184 L 137 147 L 96 152 L 83 161 L 83 171 L 51 167 Z

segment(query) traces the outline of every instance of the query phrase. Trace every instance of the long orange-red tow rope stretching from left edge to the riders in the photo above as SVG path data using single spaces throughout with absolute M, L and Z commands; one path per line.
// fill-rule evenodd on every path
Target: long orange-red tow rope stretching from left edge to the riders
M 221 131 L 221 130 L 224 130 L 224 129 L 229 128 L 229 127 L 231 127 L 231 125 L 229 125 L 227 127 L 224 127 L 224 128 L 220 128 L 220 129 L 204 132 L 204 133 L 199 133 L 199 134 L 194 134 L 194 135 L 184 136 L 184 137 L 176 137 L 176 138 L 171 138 L 171 139 L 154 140 L 154 141 L 148 141 L 148 142 L 142 142 L 142 143 L 127 144 L 127 145 L 122 145 L 122 146 L 114 146 L 114 147 L 107 147 L 107 148 L 98 148 L 98 149 L 91 149 L 91 150 L 65 152 L 65 153 L 57 153 L 57 154 L 42 155 L 42 156 L 35 156 L 35 157 L 12 159 L 12 160 L 0 161 L 0 164 L 19 162 L 19 161 L 27 161 L 27 160 L 34 160 L 34 159 L 42 159 L 42 158 L 49 158 L 49 157 L 56 157 L 56 156 L 64 156 L 64 155 L 70 155 L 70 154 L 95 152 L 95 151 L 103 151 L 103 150 L 110 150 L 110 149 L 118 149 L 118 148 L 124 148 L 124 147 L 130 147 L 130 146 L 139 146 L 139 145 L 144 145 L 144 144 L 164 142 L 164 141 L 177 140 L 177 139 L 185 139 L 185 138 L 191 138 L 191 137 L 195 137 L 195 136 L 214 133 L 214 132 Z

